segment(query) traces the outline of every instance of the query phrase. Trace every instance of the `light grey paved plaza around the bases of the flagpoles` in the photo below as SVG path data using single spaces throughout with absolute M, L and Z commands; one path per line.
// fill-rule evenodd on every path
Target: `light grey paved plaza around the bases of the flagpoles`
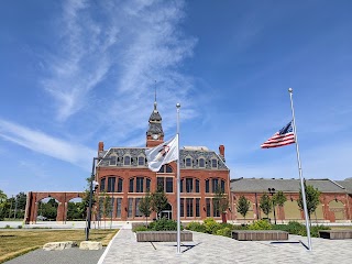
M 312 239 L 312 252 L 302 243 L 307 238 L 289 235 L 289 241 L 237 241 L 194 233 L 194 242 L 183 243 L 176 253 L 175 242 L 136 242 L 130 228 L 122 228 L 111 241 L 99 264 L 139 263 L 351 263 L 352 240 Z

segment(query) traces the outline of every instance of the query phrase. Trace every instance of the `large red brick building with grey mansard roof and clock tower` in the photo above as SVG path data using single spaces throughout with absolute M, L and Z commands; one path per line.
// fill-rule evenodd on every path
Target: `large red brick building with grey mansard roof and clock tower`
M 162 117 L 154 102 L 146 131 L 146 147 L 164 142 Z M 164 165 L 160 172 L 148 169 L 145 156 L 146 147 L 109 147 L 105 150 L 99 142 L 96 180 L 99 183 L 97 205 L 98 218 L 112 220 L 143 220 L 139 202 L 147 191 L 153 193 L 163 186 L 168 199 L 168 208 L 162 212 L 170 219 L 177 218 L 177 167 L 176 163 Z M 109 160 L 107 160 L 109 158 Z M 180 158 L 180 219 L 201 220 L 207 217 L 221 219 L 212 198 L 220 186 L 230 194 L 230 170 L 224 163 L 224 146 L 219 153 L 204 146 L 185 146 L 179 151 Z M 112 199 L 112 212 L 102 216 L 103 194 Z M 100 209 L 99 209 L 100 208 Z M 151 216 L 155 218 L 155 215 Z

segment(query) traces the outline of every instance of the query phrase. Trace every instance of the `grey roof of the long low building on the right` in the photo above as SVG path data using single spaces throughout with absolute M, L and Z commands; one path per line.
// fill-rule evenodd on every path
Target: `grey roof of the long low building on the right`
M 312 185 L 323 193 L 344 193 L 345 188 L 331 179 L 306 179 L 307 185 Z M 231 179 L 231 190 L 234 193 L 267 193 L 268 188 L 284 193 L 298 193 L 300 189 L 299 179 L 276 179 L 276 178 L 237 178 Z

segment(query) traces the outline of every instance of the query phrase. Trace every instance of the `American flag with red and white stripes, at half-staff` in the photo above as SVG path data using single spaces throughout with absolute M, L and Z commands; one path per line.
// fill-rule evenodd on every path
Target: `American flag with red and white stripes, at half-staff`
M 280 131 L 276 132 L 272 138 L 265 141 L 261 147 L 271 148 L 284 146 L 295 143 L 295 133 L 293 130 L 293 121 L 286 124 Z

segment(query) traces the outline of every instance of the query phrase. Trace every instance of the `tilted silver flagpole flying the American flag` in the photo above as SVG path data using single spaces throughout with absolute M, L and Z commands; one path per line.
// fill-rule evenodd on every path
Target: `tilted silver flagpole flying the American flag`
M 310 239 L 310 228 L 309 228 L 309 216 L 307 210 L 307 200 L 306 200 L 306 189 L 305 189 L 305 182 L 301 175 L 301 164 L 299 157 L 299 147 L 298 147 L 298 139 L 297 139 L 297 129 L 296 129 L 296 120 L 295 120 L 295 109 L 294 109 L 294 101 L 293 101 L 293 88 L 288 88 L 289 98 L 290 98 L 290 109 L 293 112 L 293 128 L 295 134 L 295 142 L 296 142 L 296 153 L 297 153 L 297 163 L 298 163 L 298 172 L 299 172 L 299 179 L 300 179 L 300 189 L 301 189 L 301 199 L 304 202 L 304 211 L 305 211 L 305 219 L 306 219 L 306 229 L 307 229 L 307 238 L 308 238 L 308 249 L 311 251 L 311 239 Z

